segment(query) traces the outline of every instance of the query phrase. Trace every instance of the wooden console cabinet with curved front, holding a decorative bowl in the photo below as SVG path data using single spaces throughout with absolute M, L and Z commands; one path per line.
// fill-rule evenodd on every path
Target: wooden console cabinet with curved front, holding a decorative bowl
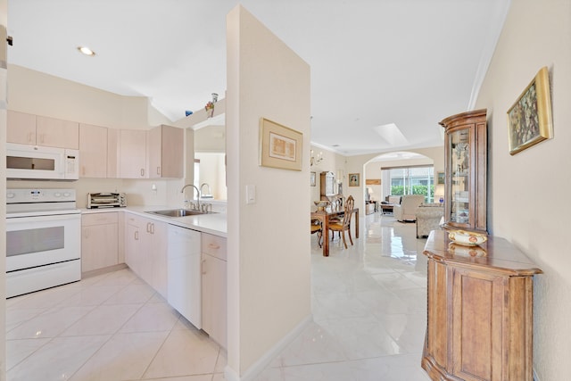
M 422 368 L 433 380 L 532 381 L 534 263 L 502 238 L 451 244 L 431 232 Z

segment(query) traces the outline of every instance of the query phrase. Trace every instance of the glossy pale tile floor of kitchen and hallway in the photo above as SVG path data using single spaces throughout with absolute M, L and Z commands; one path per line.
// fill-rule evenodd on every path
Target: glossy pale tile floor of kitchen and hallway
M 426 381 L 426 260 L 380 213 L 328 258 L 312 239 L 313 322 L 255 381 Z M 226 352 L 130 270 L 12 298 L 8 381 L 221 381 Z

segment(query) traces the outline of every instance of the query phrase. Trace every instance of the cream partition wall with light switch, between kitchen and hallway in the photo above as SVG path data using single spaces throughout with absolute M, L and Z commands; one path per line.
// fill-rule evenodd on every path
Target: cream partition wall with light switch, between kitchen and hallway
M 310 318 L 310 68 L 241 5 L 228 13 L 227 60 L 226 377 L 248 379 Z M 258 165 L 262 117 L 302 132 L 301 171 Z

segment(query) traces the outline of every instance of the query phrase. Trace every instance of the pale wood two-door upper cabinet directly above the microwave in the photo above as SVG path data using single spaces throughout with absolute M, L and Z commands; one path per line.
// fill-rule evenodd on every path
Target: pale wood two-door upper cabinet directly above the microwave
M 9 110 L 6 141 L 21 145 L 79 149 L 79 123 Z

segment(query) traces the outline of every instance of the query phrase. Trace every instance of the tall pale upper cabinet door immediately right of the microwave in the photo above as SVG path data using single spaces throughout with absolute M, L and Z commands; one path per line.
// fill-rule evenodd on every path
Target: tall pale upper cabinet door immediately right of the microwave
M 107 128 L 79 125 L 79 177 L 107 177 Z

